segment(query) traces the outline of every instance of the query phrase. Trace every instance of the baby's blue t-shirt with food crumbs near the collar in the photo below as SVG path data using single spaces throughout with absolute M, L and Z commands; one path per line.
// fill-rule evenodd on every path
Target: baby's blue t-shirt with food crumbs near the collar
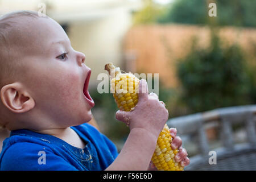
M 84 123 L 71 127 L 84 140 L 84 149 L 57 137 L 30 130 L 11 131 L 3 141 L 0 170 L 104 170 L 118 151 L 105 135 Z

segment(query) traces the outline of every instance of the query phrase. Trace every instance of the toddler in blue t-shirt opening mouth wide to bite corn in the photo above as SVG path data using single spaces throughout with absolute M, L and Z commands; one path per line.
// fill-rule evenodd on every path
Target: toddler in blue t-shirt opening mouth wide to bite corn
M 141 92 L 147 90 L 145 80 L 134 111 L 116 113 L 119 121 L 130 119 L 118 154 L 87 123 L 94 106 L 88 92 L 91 70 L 55 20 L 34 11 L 2 16 L 0 65 L 0 125 L 11 131 L 3 142 L 1 170 L 148 169 L 168 111 L 155 94 Z M 175 132 L 176 147 L 181 147 Z M 180 151 L 187 165 L 187 152 Z

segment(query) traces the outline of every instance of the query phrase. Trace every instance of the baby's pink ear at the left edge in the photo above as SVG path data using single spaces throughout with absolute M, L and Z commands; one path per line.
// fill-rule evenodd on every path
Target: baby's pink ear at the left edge
M 14 113 L 25 113 L 35 106 L 34 99 L 17 82 L 3 86 L 0 91 L 0 97 L 3 105 Z

